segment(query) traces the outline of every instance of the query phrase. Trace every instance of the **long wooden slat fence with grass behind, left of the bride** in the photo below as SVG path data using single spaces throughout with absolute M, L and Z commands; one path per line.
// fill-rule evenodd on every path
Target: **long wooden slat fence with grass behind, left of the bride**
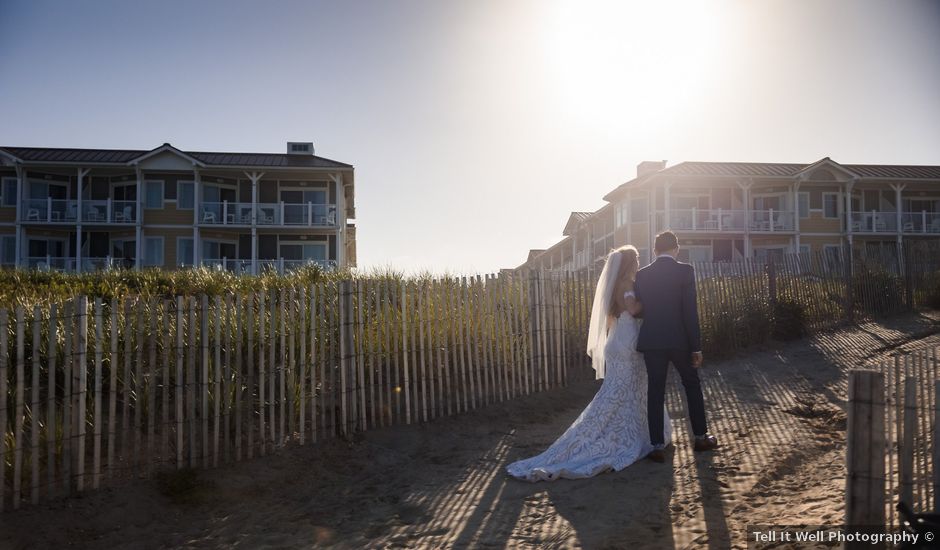
M 0 508 L 593 376 L 584 278 L 362 278 L 0 310 Z

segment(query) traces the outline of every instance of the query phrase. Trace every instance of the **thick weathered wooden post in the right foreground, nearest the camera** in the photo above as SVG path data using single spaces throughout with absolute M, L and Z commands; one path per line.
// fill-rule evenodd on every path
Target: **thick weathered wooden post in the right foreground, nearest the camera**
M 885 523 L 884 411 L 884 375 L 850 371 L 845 487 L 845 519 L 850 526 Z

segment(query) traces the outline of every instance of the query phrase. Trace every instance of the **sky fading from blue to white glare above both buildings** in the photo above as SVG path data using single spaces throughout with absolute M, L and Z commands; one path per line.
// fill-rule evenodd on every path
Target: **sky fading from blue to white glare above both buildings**
M 644 160 L 940 164 L 933 0 L 0 0 L 0 144 L 353 164 L 359 266 L 525 261 Z

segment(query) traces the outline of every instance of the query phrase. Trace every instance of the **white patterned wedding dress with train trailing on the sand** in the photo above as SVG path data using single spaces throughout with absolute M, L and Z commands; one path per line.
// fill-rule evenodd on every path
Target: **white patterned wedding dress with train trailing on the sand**
M 615 321 L 604 345 L 604 382 L 594 399 L 545 452 L 507 466 L 510 475 L 527 481 L 591 477 L 622 470 L 653 450 L 646 421 L 646 365 L 636 351 L 639 327 L 629 313 Z M 663 414 L 668 445 L 672 425 Z

